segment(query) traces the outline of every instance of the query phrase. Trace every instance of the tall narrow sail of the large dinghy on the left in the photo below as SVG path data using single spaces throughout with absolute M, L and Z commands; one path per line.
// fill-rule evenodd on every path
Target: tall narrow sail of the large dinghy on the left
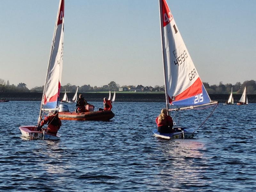
M 63 64 L 63 37 L 64 0 L 60 0 L 42 97 L 41 107 L 43 108 L 57 107 L 58 98 L 60 96 L 60 83 Z

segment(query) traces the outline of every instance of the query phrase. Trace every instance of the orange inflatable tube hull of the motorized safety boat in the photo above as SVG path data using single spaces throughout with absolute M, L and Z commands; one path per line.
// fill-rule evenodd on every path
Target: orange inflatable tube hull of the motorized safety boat
M 84 113 L 59 112 L 61 120 L 78 120 L 78 121 L 109 121 L 115 116 L 112 111 L 91 111 Z

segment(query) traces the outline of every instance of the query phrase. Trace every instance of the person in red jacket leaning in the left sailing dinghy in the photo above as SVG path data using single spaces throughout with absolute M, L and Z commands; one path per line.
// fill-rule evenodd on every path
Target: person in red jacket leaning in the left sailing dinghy
M 41 127 L 47 122 L 47 132 L 56 135 L 61 126 L 58 111 L 55 111 L 53 115 L 45 117 L 44 120 L 41 122 Z

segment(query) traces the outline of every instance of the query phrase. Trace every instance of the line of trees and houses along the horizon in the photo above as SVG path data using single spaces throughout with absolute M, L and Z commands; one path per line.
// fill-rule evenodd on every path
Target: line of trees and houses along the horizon
M 204 87 L 206 91 L 209 94 L 229 94 L 231 92 L 231 88 L 233 88 L 233 93 L 234 94 L 242 94 L 244 91 L 244 87 L 246 86 L 246 93 L 247 94 L 256 94 L 256 81 L 250 80 L 250 81 L 244 81 L 243 84 L 240 82 L 237 82 L 236 84 L 223 84 L 220 82 L 218 85 L 209 85 L 209 83 L 203 82 Z M 143 87 L 142 85 L 139 85 L 140 87 Z M 88 91 L 118 91 L 119 88 L 124 88 L 126 87 L 128 90 L 134 90 L 139 86 L 135 85 L 123 85 L 120 86 L 119 84 L 116 84 L 115 81 L 111 81 L 107 85 L 103 85 L 100 87 L 97 86 L 91 86 L 90 84 L 84 84 L 82 86 L 79 86 L 79 91 L 80 92 L 88 92 Z M 151 87 L 151 86 L 148 86 Z M 61 86 L 60 91 L 64 92 L 65 88 L 67 92 L 76 92 L 77 85 L 71 85 L 70 83 Z M 161 88 L 161 89 L 160 89 Z M 27 88 L 27 84 L 25 83 L 19 83 L 17 85 L 10 85 L 9 80 L 5 82 L 4 79 L 0 79 L 0 92 L 43 92 L 44 90 L 44 85 L 43 86 L 36 86 L 33 87 L 32 89 Z M 156 85 L 155 89 L 153 90 L 164 90 L 164 85 L 159 86 Z

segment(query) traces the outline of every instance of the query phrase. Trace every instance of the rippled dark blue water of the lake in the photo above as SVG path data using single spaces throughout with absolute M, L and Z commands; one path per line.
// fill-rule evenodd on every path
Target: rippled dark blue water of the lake
M 24 140 L 19 126 L 35 125 L 39 106 L 0 103 L 0 191 L 256 189 L 256 104 L 220 104 L 190 140 L 154 137 L 165 103 L 136 102 L 115 102 L 109 122 L 62 121 L 59 141 Z M 212 109 L 183 111 L 180 125 L 197 128 Z

